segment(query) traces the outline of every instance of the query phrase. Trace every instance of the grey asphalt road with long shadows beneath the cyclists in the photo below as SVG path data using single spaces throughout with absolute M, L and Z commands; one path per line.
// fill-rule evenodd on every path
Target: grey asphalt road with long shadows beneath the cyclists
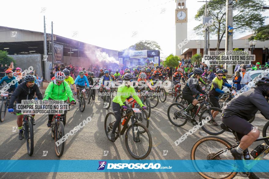
M 121 136 L 115 143 L 109 141 L 104 131 L 105 115 L 112 111 L 103 109 L 101 98 L 96 97 L 94 103 L 87 104 L 83 113 L 79 111 L 78 104 L 71 107 L 67 114 L 67 123 L 65 132 L 69 132 L 87 117 L 92 120 L 76 134 L 70 136 L 65 142 L 64 154 L 58 158 L 54 151 L 54 139 L 51 137 L 51 130 L 46 127 L 48 116 L 36 115 L 37 124 L 34 126 L 34 154 L 28 156 L 25 140 L 18 140 L 18 129 L 16 127 L 16 115 L 7 113 L 4 122 L 0 123 L 0 159 L 1 160 L 132 160 L 133 158 L 127 152 L 124 137 Z M 169 101 L 171 97 L 167 98 Z M 193 144 L 200 138 L 208 136 L 202 129 L 189 136 L 180 145 L 176 146 L 174 141 L 180 138 L 193 126 L 187 123 L 183 127 L 176 127 L 170 123 L 167 117 L 167 109 L 162 109 L 166 102 L 159 103 L 155 109 L 152 109 L 150 116 L 149 131 L 153 138 L 153 147 L 151 153 L 146 159 L 161 160 L 185 160 L 190 159 L 190 150 Z M 169 106 L 169 105 L 168 105 Z M 261 131 L 267 120 L 260 114 L 256 114 L 253 122 Z M 224 132 L 219 137 L 234 143 L 233 135 Z M 262 143 L 262 142 L 261 142 Z M 252 151 L 259 143 L 256 142 L 249 148 Z M 167 150 L 167 155 L 164 154 Z M 43 151 L 47 155 L 43 156 Z M 104 151 L 108 155 L 104 156 Z M 267 155 L 265 159 L 269 159 Z M 25 167 L 25 166 L 22 166 Z M 31 166 L 28 166 L 31 167 Z M 76 167 L 76 166 L 73 166 Z M 96 166 L 94 166 L 96 167 Z M 260 178 L 269 178 L 268 173 L 257 173 Z M 0 173 L 1 178 L 202 178 L 197 173 Z M 243 177 L 235 177 L 243 178 Z

